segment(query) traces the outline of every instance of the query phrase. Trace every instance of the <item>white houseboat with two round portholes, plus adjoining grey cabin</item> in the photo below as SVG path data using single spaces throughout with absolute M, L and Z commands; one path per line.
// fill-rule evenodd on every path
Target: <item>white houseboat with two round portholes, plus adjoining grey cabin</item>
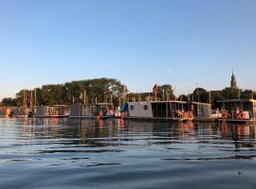
M 121 112 L 125 112 L 125 119 L 186 122 L 210 118 L 211 105 L 185 101 L 127 102 Z

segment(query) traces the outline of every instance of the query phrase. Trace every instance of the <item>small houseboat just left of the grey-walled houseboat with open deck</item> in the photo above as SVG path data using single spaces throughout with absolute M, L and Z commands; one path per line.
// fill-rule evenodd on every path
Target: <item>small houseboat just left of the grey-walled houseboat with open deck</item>
M 69 116 L 69 108 L 65 105 L 37 106 L 36 117 L 62 118 Z

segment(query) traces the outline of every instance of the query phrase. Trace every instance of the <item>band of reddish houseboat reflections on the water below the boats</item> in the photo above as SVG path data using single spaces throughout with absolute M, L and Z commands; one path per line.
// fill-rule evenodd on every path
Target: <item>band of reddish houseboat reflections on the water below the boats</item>
M 224 140 L 254 140 L 256 138 L 256 125 L 232 125 L 213 123 L 161 123 L 117 120 L 90 120 L 90 119 L 20 119 L 19 125 L 23 133 L 29 132 L 37 136 L 67 137 L 67 138 L 111 138 L 133 133 L 166 137 L 172 140 L 194 140 L 200 136 Z

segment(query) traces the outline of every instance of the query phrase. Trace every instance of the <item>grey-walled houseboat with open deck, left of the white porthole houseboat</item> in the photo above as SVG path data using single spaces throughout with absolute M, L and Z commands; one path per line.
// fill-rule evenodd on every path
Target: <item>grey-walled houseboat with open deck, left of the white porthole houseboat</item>
M 115 117 L 112 103 L 80 104 L 70 108 L 70 118 L 107 119 Z

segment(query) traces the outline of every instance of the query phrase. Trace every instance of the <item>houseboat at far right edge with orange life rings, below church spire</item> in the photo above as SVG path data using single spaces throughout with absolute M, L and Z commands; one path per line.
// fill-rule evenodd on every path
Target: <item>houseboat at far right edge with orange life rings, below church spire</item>
M 256 121 L 256 100 L 226 99 L 218 101 L 221 110 L 219 122 L 249 123 Z

